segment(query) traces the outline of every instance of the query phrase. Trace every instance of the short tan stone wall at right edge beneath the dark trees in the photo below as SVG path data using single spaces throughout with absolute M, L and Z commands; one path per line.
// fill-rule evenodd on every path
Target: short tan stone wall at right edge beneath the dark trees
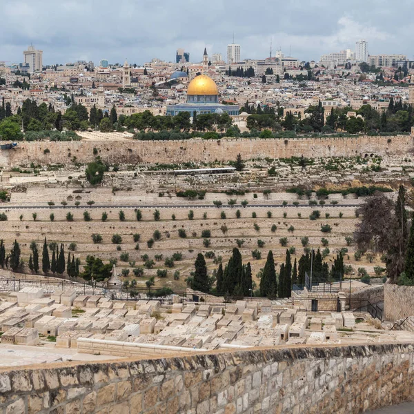
M 396 322 L 414 316 L 414 286 L 384 285 L 384 318 Z

